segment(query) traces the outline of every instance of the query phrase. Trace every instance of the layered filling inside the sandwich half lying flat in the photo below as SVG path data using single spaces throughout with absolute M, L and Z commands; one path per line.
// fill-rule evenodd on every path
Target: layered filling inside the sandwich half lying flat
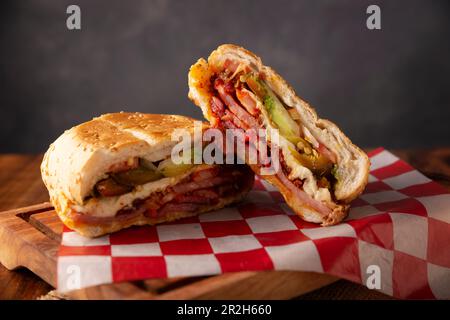
M 158 166 L 149 173 L 142 168 L 142 159 L 118 164 L 114 169 L 121 171 L 99 181 L 83 206 L 72 205 L 70 217 L 75 223 L 101 224 L 137 216 L 158 219 L 169 213 L 195 213 L 222 199 L 236 198 L 253 185 L 253 172 L 247 166 L 178 166 L 183 168 L 167 171 Z

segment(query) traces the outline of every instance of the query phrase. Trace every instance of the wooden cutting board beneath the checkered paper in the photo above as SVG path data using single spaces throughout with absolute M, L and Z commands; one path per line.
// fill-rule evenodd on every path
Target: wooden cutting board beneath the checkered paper
M 56 286 L 62 222 L 50 203 L 0 213 L 0 262 L 25 267 Z M 99 285 L 67 294 L 73 299 L 289 299 L 337 281 L 314 272 L 236 272 Z

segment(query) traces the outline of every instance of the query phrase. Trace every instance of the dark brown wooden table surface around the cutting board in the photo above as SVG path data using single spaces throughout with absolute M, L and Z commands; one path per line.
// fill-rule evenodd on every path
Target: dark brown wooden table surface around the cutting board
M 392 151 L 450 190 L 450 147 Z M 0 211 L 48 201 L 39 166 L 42 155 L 0 155 Z M 0 299 L 36 299 L 53 288 L 21 269 L 8 271 L 0 264 Z M 299 299 L 386 299 L 386 295 L 340 280 Z

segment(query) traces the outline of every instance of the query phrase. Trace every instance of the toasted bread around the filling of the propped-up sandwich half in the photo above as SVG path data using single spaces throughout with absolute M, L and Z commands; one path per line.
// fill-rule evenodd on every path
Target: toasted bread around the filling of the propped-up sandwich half
M 199 59 L 189 71 L 188 96 L 202 109 L 204 117 L 213 126 L 217 120 L 210 109 L 210 99 L 213 94 L 210 79 L 223 69 L 223 64 L 227 59 L 243 63 L 261 74 L 286 105 L 296 108 L 301 115 L 302 125 L 337 155 L 339 164 L 337 173 L 340 179 L 335 185 L 335 196 L 342 205 L 338 205 L 330 215 L 323 217 L 314 209 L 299 203 L 276 176 L 262 177 L 275 185 L 290 207 L 306 221 L 332 225 L 343 220 L 348 213 L 349 206 L 347 204 L 358 197 L 367 184 L 370 167 L 367 155 L 354 145 L 333 122 L 320 119 L 314 108 L 298 97 L 294 89 L 279 74 L 263 65 L 261 58 L 233 44 L 219 46 L 210 54 L 208 61 Z M 257 172 L 257 168 L 251 167 Z

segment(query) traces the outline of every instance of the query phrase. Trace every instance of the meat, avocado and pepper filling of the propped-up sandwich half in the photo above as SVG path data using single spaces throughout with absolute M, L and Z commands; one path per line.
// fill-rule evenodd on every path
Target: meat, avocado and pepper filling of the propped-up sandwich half
M 339 205 L 334 195 L 337 156 L 302 125 L 297 110 L 282 102 L 263 73 L 226 60 L 211 77 L 210 92 L 216 127 L 278 129 L 277 176 L 299 200 L 324 216 Z

